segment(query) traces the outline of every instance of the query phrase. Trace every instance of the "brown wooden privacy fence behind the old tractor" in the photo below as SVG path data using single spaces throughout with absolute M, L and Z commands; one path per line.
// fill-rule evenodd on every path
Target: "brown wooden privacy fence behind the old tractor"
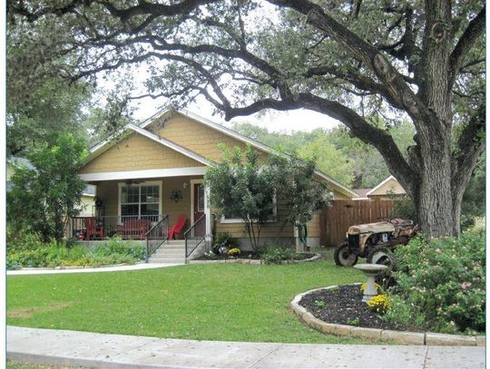
M 386 220 L 392 211 L 393 200 L 386 198 L 335 200 L 330 209 L 320 212 L 320 245 L 335 247 L 344 241 L 350 226 Z

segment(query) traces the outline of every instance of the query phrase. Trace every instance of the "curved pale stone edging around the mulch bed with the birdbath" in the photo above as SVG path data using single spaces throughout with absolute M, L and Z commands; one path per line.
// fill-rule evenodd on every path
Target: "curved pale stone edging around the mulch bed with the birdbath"
M 354 284 L 360 286 L 360 283 Z M 294 297 L 290 307 L 294 314 L 299 316 L 307 325 L 317 331 L 333 335 L 351 335 L 353 337 L 363 337 L 377 339 L 380 341 L 392 341 L 401 345 L 438 345 L 438 346 L 485 346 L 485 335 L 446 335 L 440 333 L 418 333 L 393 331 L 378 328 L 363 328 L 353 325 L 338 325 L 326 323 L 313 316 L 305 307 L 299 306 L 299 301 L 303 296 L 319 290 L 337 288 L 338 286 L 328 286 L 310 289 Z

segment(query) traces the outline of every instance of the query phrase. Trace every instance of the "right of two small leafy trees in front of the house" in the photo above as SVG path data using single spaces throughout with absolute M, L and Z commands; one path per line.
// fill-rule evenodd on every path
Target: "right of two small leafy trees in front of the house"
M 332 194 L 327 186 L 314 179 L 315 159 L 303 160 L 298 155 L 271 155 L 270 168 L 277 173 L 277 189 L 288 205 L 284 219 L 298 229 L 299 240 L 307 248 L 307 223 L 319 209 L 330 206 Z

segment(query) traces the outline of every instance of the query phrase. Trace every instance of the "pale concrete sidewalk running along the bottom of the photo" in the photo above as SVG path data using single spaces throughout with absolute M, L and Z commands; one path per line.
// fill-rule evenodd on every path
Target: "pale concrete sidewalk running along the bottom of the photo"
M 7 326 L 7 359 L 97 368 L 485 368 L 483 346 L 187 341 Z

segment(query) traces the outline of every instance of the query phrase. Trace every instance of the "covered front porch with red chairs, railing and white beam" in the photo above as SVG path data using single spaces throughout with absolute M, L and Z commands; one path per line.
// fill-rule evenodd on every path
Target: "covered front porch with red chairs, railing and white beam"
M 167 239 L 181 239 L 186 248 L 198 241 L 211 243 L 209 190 L 202 184 L 205 169 L 82 174 L 96 186 L 92 215 L 72 218 L 68 236 L 146 240 L 148 256 Z

